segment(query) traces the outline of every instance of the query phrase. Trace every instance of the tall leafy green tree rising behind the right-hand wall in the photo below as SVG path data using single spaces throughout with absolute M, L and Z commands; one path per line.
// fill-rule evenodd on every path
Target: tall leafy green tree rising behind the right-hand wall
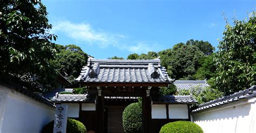
M 223 39 L 219 43 L 215 62 L 216 85 L 226 95 L 255 85 L 256 17 L 234 19 L 233 26 L 226 24 Z

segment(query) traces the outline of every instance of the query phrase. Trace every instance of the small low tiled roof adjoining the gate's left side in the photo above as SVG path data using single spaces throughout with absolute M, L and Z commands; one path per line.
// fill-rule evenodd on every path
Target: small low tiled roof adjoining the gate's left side
M 52 102 L 87 102 L 94 103 L 95 98 L 91 98 L 89 94 L 57 94 L 51 99 Z

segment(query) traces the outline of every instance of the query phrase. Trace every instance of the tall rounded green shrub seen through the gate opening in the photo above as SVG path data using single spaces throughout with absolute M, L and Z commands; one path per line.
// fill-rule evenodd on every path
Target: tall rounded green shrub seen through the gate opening
M 128 133 L 142 132 L 142 103 L 128 105 L 123 112 L 123 127 Z

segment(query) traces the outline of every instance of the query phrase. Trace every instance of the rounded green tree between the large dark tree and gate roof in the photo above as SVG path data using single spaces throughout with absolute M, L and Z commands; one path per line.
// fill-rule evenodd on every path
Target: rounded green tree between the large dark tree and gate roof
M 62 75 L 67 75 L 71 83 L 75 82 L 81 72 L 81 69 L 86 65 L 88 55 L 76 45 L 57 45 L 59 57 L 52 60 L 51 64 L 55 66 Z

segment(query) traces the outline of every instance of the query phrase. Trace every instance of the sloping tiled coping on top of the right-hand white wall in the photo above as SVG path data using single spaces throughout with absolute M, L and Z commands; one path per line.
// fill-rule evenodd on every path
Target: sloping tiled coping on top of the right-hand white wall
M 255 85 L 246 90 L 236 92 L 232 95 L 227 95 L 225 97 L 215 99 L 215 100 L 206 102 L 204 104 L 201 104 L 198 106 L 197 109 L 194 109 L 192 112 L 199 112 L 201 110 L 205 110 L 208 108 L 214 108 L 214 107 L 222 106 L 222 105 L 234 102 L 234 101 L 238 101 L 241 99 L 248 99 L 248 98 L 252 98 L 252 97 L 256 97 L 256 86 Z

